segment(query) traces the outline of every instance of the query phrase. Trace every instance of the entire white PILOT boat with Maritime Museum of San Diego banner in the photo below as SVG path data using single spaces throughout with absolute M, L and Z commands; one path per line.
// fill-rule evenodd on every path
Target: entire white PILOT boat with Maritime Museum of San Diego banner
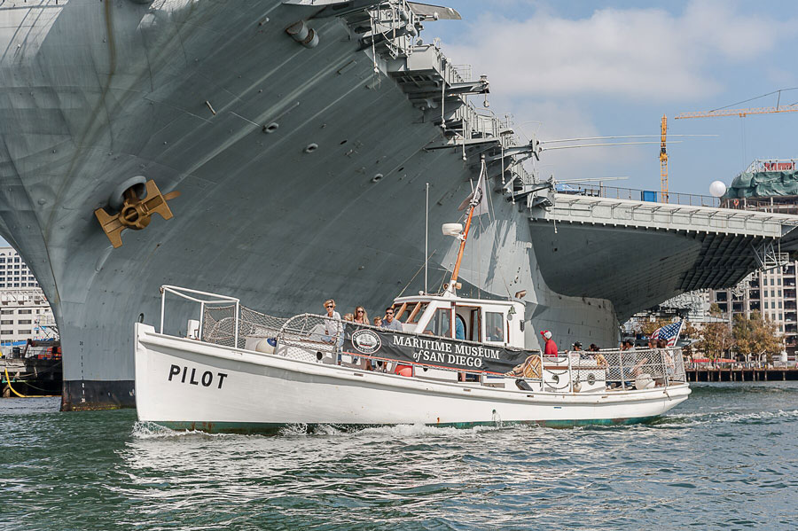
M 310 314 L 277 318 L 236 298 L 162 286 L 160 329 L 136 324 L 139 420 L 244 433 L 323 424 L 578 426 L 646 421 L 687 399 L 679 348 L 547 357 L 525 349 L 519 298 L 458 296 L 478 195 L 465 231 L 445 229 L 461 240 L 450 283 L 442 293 L 395 299 L 401 332 Z M 187 334 L 164 332 L 175 325 L 166 312 L 175 295 L 199 306 Z

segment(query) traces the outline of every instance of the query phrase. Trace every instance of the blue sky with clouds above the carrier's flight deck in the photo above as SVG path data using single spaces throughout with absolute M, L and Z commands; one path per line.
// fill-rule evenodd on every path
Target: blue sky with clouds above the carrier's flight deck
M 798 158 L 798 113 L 678 120 L 798 87 L 798 2 L 451 2 L 459 21 L 426 23 L 456 64 L 488 74 L 490 110 L 539 139 L 658 135 L 669 118 L 671 191 L 708 193 L 754 159 Z M 474 99 L 474 102 L 481 102 Z M 782 104 L 798 102 L 798 90 Z M 776 97 L 739 107 L 775 105 Z M 647 139 L 655 140 L 655 138 Z M 626 140 L 627 142 L 632 140 Z M 617 142 L 622 142 L 619 140 Z M 544 152 L 543 177 L 629 176 L 658 190 L 659 145 Z

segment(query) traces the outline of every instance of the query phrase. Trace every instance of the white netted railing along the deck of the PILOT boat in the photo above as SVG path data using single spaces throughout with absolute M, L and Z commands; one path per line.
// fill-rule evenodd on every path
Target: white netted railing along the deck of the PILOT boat
M 235 297 L 172 285 L 162 286 L 161 293 L 160 333 L 164 333 L 167 295 L 174 294 L 200 306 L 200 319 L 193 321 L 198 324 L 197 333 L 189 333 L 189 337 L 223 347 L 242 348 L 262 355 L 279 355 L 303 362 L 364 369 L 366 360 L 371 359 L 372 368 L 378 371 L 383 367 L 387 371 L 394 371 L 397 364 L 401 364 L 410 367 L 409 375 L 422 379 L 459 381 L 469 385 L 481 383 L 487 387 L 518 387 L 553 393 L 573 393 L 580 389 L 599 391 L 606 388 L 631 390 L 668 387 L 686 381 L 685 363 L 681 348 L 678 347 L 612 349 L 599 353 L 571 351 L 560 352 L 556 357 L 530 350 L 520 357 L 515 371 L 495 374 L 347 354 L 341 349 L 346 322 L 327 316 L 269 316 L 241 306 L 239 299 Z M 398 333 L 415 335 L 413 332 Z M 424 336 L 425 339 L 434 337 Z M 462 342 L 481 345 L 467 340 Z M 526 359 L 522 359 L 523 357 Z

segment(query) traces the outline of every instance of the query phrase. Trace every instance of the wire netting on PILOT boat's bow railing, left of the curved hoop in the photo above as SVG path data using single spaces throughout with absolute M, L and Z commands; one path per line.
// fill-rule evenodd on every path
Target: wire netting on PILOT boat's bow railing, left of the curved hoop
M 239 307 L 239 345 L 246 347 L 247 339 L 276 338 L 288 319 Z M 235 340 L 236 305 L 206 306 L 203 314 L 202 340 L 233 347 Z

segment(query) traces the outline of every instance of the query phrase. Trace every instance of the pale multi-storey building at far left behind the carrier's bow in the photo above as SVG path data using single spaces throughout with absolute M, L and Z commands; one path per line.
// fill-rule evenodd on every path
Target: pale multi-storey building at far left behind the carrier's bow
M 0 343 L 54 335 L 55 319 L 38 282 L 12 247 L 0 247 Z

